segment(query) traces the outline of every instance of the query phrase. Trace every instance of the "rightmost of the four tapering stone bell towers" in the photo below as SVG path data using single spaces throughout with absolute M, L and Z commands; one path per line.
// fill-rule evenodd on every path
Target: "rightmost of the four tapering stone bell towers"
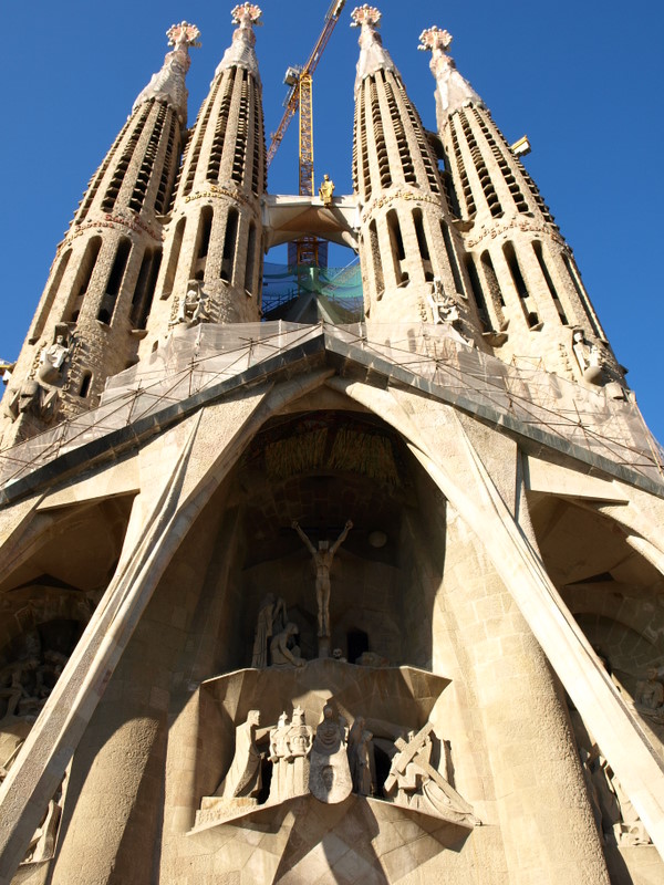
M 429 28 L 436 112 L 463 229 L 464 264 L 495 353 L 591 385 L 624 378 L 583 288 L 573 253 L 515 149 L 449 55 L 452 35 Z M 497 340 L 496 340 L 497 339 Z

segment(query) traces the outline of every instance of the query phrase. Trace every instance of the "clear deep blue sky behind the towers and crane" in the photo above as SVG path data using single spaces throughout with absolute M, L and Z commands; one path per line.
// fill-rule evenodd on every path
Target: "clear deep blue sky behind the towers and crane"
M 357 30 L 346 2 L 314 79 L 317 181 L 351 191 Z M 232 2 L 115 0 L 11 3 L 3 10 L 6 170 L 0 261 L 0 357 L 18 355 L 87 180 L 167 51 L 165 31 L 201 31 L 188 75 L 189 124 L 230 42 Z M 660 212 L 664 4 L 656 0 L 434 0 L 376 3 L 383 41 L 425 125 L 435 128 L 432 24 L 454 35 L 453 55 L 508 140 L 527 133 L 525 163 L 574 253 L 645 419 L 664 440 L 661 393 L 663 249 Z M 263 0 L 257 52 L 266 129 L 277 128 L 283 73 L 309 55 L 329 0 Z M 297 191 L 297 126 L 270 168 L 269 190 Z M 336 263 L 351 258 L 336 252 Z M 270 256 L 271 260 L 274 257 Z M 279 259 L 277 259 L 279 260 Z

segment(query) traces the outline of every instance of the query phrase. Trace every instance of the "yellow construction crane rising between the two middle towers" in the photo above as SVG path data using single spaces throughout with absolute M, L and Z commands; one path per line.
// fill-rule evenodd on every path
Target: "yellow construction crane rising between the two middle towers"
M 281 144 L 288 126 L 300 110 L 300 167 L 299 167 L 299 194 L 301 197 L 313 197 L 313 104 L 312 104 L 312 75 L 315 71 L 323 50 L 328 45 L 334 25 L 339 21 L 341 12 L 345 6 L 345 0 L 332 0 L 332 4 L 325 15 L 325 23 L 313 50 L 303 67 L 291 66 L 287 70 L 283 82 L 290 91 L 283 103 L 286 111 L 277 132 L 271 133 L 271 143 L 268 148 L 268 166 L 272 162 L 277 148 Z M 319 266 L 319 243 L 317 237 L 302 237 L 297 241 L 297 264 L 318 267 Z

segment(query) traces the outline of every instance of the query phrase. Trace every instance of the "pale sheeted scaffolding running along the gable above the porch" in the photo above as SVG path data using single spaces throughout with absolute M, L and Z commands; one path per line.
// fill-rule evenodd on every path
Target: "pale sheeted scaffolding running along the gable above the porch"
M 110 378 L 97 408 L 0 454 L 0 489 L 73 450 L 322 337 L 330 354 L 391 384 L 411 385 L 481 420 L 559 449 L 664 497 L 664 450 L 633 402 L 613 400 L 538 368 L 517 368 L 458 341 L 444 325 L 203 324 L 176 331 L 145 363 Z M 255 383 L 256 377 L 252 375 Z M 217 388 L 217 391 L 215 389 Z M 200 397 L 197 398 L 200 407 Z M 170 420 L 170 418 L 169 418 Z M 7 494 L 6 494 L 7 497 Z M 10 496 L 11 497 L 11 496 Z

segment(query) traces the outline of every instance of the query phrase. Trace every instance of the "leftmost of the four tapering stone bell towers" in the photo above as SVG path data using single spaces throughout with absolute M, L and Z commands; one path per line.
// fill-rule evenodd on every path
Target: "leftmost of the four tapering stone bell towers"
M 2 446 L 94 407 L 106 378 L 136 362 L 162 258 L 187 118 L 185 75 L 198 29 L 174 48 L 138 95 L 91 179 L 55 261 L 7 389 Z

